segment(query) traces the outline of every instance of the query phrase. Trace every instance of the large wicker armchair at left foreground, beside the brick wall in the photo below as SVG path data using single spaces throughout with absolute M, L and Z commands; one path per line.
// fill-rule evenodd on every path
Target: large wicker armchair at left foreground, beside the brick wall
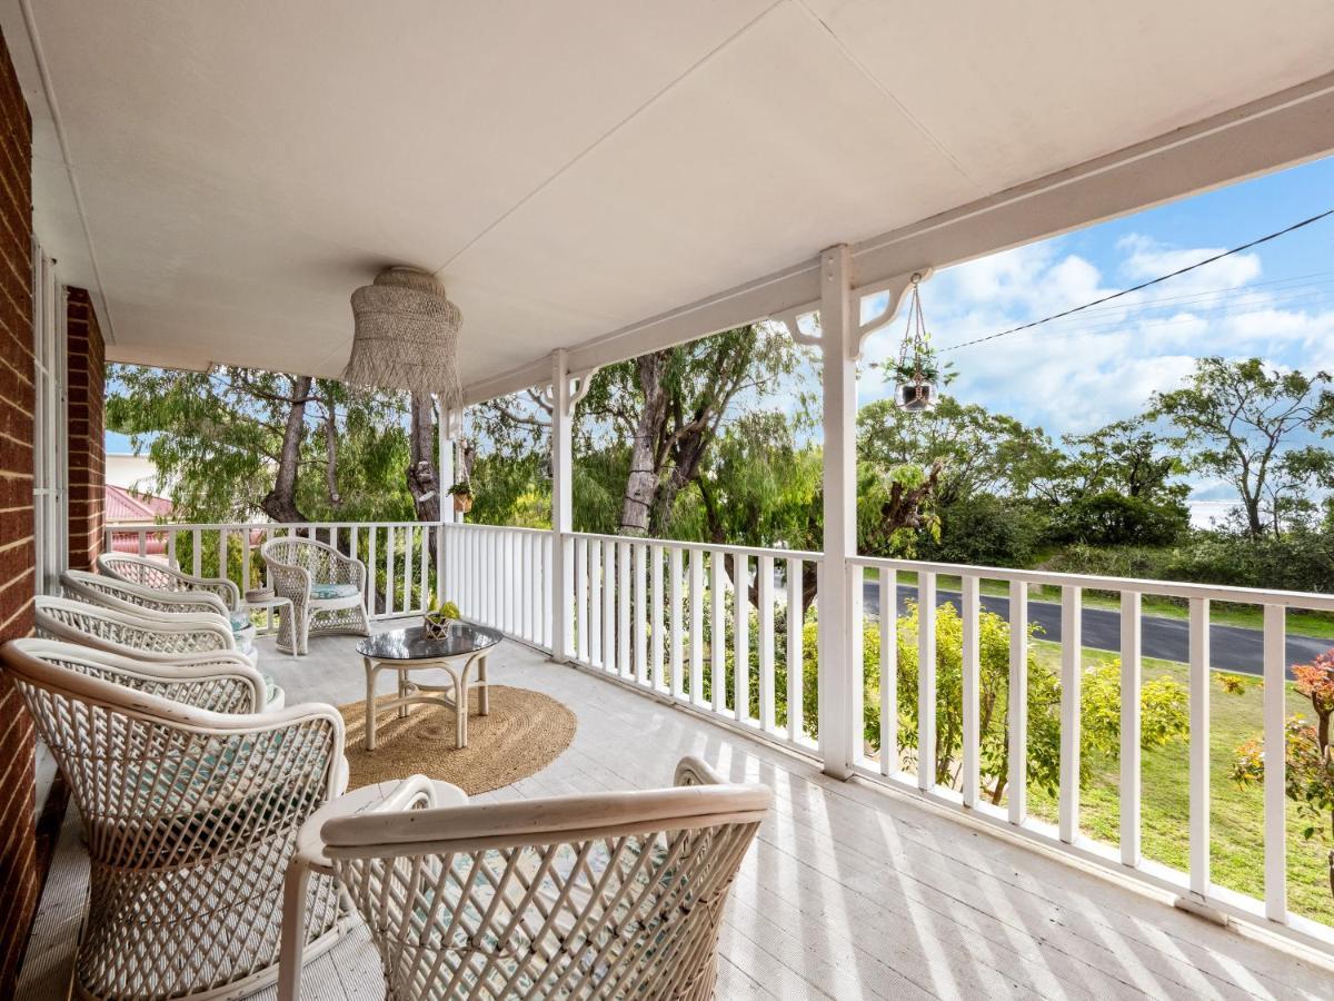
M 60 659 L 0 649 L 92 860 L 76 996 L 240 997 L 272 982 L 296 833 L 347 782 L 338 711 L 211 713 Z M 331 881 L 309 912 L 308 942 L 332 942 Z

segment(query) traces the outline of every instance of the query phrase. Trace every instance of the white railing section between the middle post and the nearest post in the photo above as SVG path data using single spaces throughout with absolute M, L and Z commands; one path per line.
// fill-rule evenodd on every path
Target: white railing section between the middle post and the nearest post
M 815 750 L 815 707 L 803 693 L 815 645 L 806 642 L 804 618 L 792 627 L 788 610 L 804 610 L 803 582 L 818 571 L 819 554 L 582 533 L 566 546 L 571 659 Z

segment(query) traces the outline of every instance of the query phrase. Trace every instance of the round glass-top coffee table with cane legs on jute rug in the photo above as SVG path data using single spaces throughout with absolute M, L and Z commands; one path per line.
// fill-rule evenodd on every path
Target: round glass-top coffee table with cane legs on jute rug
M 414 705 L 444 706 L 454 710 L 454 746 L 468 746 L 468 691 L 478 690 L 478 711 L 491 713 L 487 691 L 487 653 L 504 637 L 494 629 L 454 622 L 442 639 L 427 639 L 420 626 L 375 633 L 356 645 L 366 666 L 366 749 L 375 750 L 376 711 L 398 709 L 399 719 L 407 719 Z M 475 679 L 468 671 L 476 667 Z M 398 694 L 376 705 L 375 679 L 380 671 L 398 673 Z M 427 685 L 412 681 L 412 671 L 442 670 L 448 685 Z

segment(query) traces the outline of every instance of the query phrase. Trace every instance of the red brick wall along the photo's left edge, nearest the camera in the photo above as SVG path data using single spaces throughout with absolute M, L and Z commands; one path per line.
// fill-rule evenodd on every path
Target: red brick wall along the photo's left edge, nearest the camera
M 32 120 L 0 40 L 0 639 L 32 631 Z M 40 890 L 32 721 L 0 678 L 0 997 Z

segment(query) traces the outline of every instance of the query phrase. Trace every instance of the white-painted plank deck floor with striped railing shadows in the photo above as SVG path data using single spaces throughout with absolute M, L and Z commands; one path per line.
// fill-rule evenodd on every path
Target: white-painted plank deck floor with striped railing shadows
M 288 705 L 364 697 L 354 641 L 300 661 L 261 639 Z M 663 785 L 683 754 L 775 793 L 722 934 L 719 998 L 1334 997 L 1334 972 L 1189 916 L 1138 889 L 974 830 L 910 797 L 835 782 L 808 761 L 506 643 L 491 677 L 579 718 L 571 747 L 486 798 Z M 388 675 L 382 682 L 388 686 Z M 20 998 L 63 997 L 87 881 L 67 822 Z M 275 998 L 269 989 L 259 998 Z M 304 973 L 303 998 L 383 997 L 364 929 Z

